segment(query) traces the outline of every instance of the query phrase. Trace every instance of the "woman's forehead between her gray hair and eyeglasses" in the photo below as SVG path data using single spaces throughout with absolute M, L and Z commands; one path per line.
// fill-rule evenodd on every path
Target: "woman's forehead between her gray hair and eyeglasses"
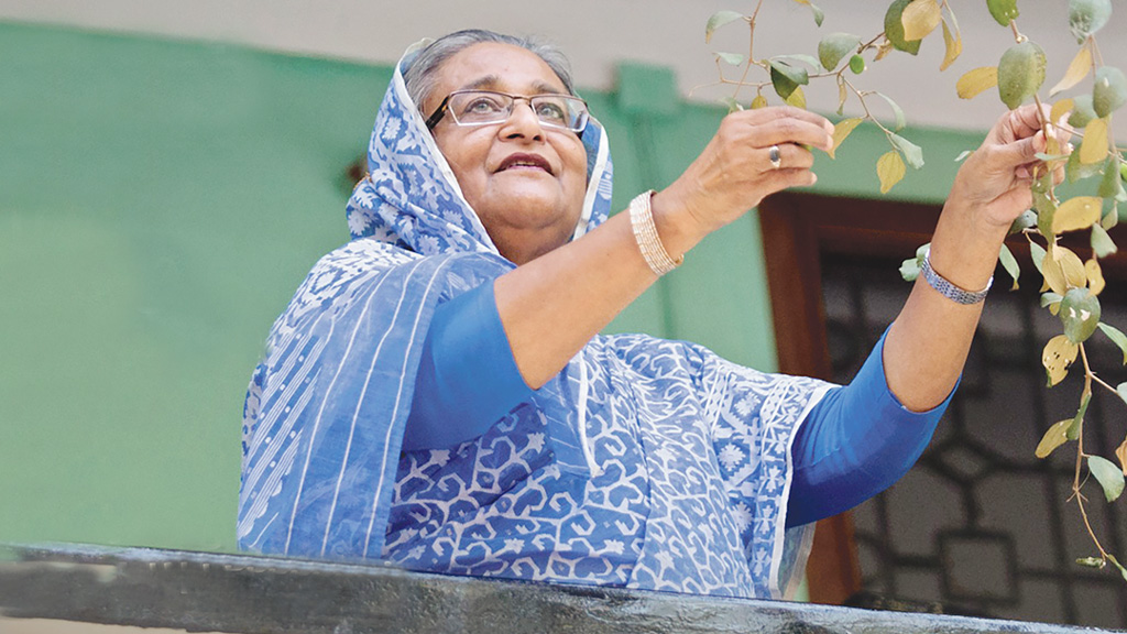
M 440 98 L 467 89 L 532 95 L 567 93 L 564 82 L 540 55 L 511 44 L 474 44 L 446 60 L 437 72 Z

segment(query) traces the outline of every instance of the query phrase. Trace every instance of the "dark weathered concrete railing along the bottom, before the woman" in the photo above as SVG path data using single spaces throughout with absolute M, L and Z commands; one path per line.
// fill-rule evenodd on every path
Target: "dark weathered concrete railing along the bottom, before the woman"
M 20 626 L 33 623 L 39 624 L 35 632 L 53 632 L 29 619 L 245 634 L 1100 632 L 443 576 L 383 565 L 147 548 L 0 548 L 0 632 L 30 632 Z

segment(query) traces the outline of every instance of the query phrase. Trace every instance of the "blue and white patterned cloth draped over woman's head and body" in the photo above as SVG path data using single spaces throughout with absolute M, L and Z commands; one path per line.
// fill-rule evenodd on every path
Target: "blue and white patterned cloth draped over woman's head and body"
M 405 55 L 409 60 L 412 51 Z M 485 435 L 401 451 L 436 306 L 514 268 L 465 202 L 400 61 L 347 205 L 270 332 L 243 422 L 243 549 L 473 575 L 780 597 L 790 446 L 826 384 L 683 342 L 598 336 Z M 409 62 L 407 62 L 409 63 Z M 575 238 L 606 219 L 594 118 Z

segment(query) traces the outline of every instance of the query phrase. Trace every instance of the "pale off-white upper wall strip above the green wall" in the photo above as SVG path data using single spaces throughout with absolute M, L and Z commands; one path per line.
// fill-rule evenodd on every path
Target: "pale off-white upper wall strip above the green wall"
M 781 53 L 815 54 L 818 39 L 832 32 L 870 37 L 882 29 L 888 1 L 818 0 L 827 18 L 816 28 L 809 10 L 793 1 L 765 0 L 756 33 L 756 56 Z M 1127 67 L 1127 6 L 1099 38 L 1106 60 Z M 161 34 L 174 37 L 236 42 L 267 50 L 391 62 L 411 42 L 465 27 L 547 36 L 571 56 L 579 86 L 613 85 L 615 62 L 642 60 L 672 67 L 682 91 L 715 81 L 711 50 L 744 52 L 746 30 L 737 24 L 722 29 L 711 46 L 704 44 L 708 16 L 719 9 L 749 12 L 754 0 L 533 0 L 459 2 L 455 0 L 0 0 L 0 19 L 28 20 Z M 858 78 L 859 87 L 881 90 L 896 99 L 916 125 L 985 129 L 1002 112 L 996 93 L 973 102 L 955 96 L 960 74 L 993 65 L 1012 44 L 1008 29 L 988 16 L 982 0 L 952 0 L 964 29 L 965 53 L 940 74 L 942 41 L 934 34 L 917 59 L 897 53 Z M 1047 83 L 1059 79 L 1075 53 L 1067 34 L 1067 2 L 1023 2 L 1019 25 L 1049 55 Z M 1119 35 L 1115 37 L 1113 34 Z M 761 78 L 765 79 L 765 78 Z M 810 88 L 815 109 L 836 106 L 836 88 L 824 81 Z M 716 99 L 727 93 L 698 90 L 694 98 Z M 879 107 L 879 104 L 878 104 Z M 859 112 L 857 107 L 850 108 Z M 885 112 L 886 111 L 878 111 Z M 1116 125 L 1127 139 L 1127 116 Z

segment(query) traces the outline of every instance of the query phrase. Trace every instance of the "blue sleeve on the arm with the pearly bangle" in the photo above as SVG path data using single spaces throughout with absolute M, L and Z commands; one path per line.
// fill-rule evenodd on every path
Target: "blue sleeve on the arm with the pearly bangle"
M 533 395 L 513 359 L 492 282 L 440 305 L 423 343 L 403 450 L 472 440 Z

